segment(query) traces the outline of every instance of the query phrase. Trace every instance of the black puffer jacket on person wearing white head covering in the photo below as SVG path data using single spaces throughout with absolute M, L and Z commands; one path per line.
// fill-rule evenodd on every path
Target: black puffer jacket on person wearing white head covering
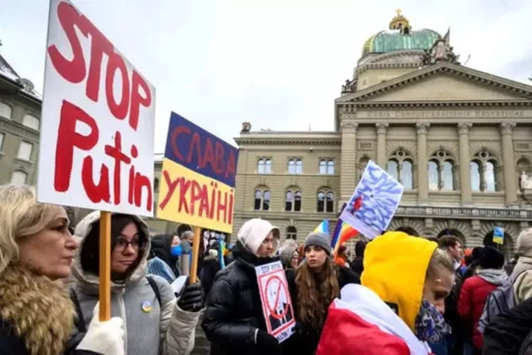
M 211 355 L 272 354 L 255 344 L 256 329 L 266 331 L 255 267 L 278 259 L 258 258 L 240 241 L 233 255 L 235 261 L 216 274 L 206 301 L 202 327 Z

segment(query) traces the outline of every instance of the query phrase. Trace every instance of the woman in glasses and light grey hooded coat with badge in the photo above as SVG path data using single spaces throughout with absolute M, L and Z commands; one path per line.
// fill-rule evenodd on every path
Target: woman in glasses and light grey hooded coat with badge
M 80 248 L 72 270 L 77 296 L 74 303 L 85 324 L 89 324 L 98 301 L 99 216 L 99 211 L 89 214 L 75 231 Z M 111 239 L 111 314 L 123 319 L 125 354 L 189 354 L 202 309 L 201 286 L 186 286 L 176 300 L 165 279 L 146 276 L 150 239 L 141 218 L 113 214 Z M 85 324 L 80 323 L 78 331 L 82 333 Z

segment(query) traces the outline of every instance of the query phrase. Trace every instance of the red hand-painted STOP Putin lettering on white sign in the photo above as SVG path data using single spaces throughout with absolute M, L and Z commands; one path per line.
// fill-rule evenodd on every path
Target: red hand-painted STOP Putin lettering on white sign
M 57 145 L 55 150 L 55 171 L 54 188 L 59 192 L 69 190 L 72 175 L 73 159 L 75 149 L 87 152 L 82 159 L 81 181 L 92 202 L 105 201 L 119 205 L 121 203 L 121 168 L 122 165 L 130 166 L 129 180 L 127 187 L 127 202 L 130 205 L 141 207 L 142 191 L 148 193 L 146 208 L 152 210 L 152 187 L 150 180 L 145 175 L 135 171 L 133 159 L 139 156 L 138 148 L 135 145 L 130 147 L 130 154 L 127 155 L 122 149 L 122 137 L 130 132 L 135 132 L 139 126 L 139 112 L 141 106 L 149 107 L 152 103 L 152 94 L 148 83 L 135 70 L 132 71 L 131 78 L 127 73 L 127 67 L 120 53 L 114 51 L 114 46 L 105 36 L 98 31 L 87 17 L 78 13 L 69 3 L 60 3 L 57 6 L 57 16 L 67 36 L 72 59 L 65 58 L 55 45 L 48 47 L 48 55 L 51 63 L 65 80 L 70 83 L 82 83 L 85 78 L 85 95 L 91 101 L 98 102 L 100 97 L 100 75 L 102 75 L 103 55 L 107 55 L 107 68 L 105 69 L 105 98 L 109 112 L 118 120 L 127 118 L 127 128 L 124 132 L 116 131 L 114 141 L 105 142 L 105 155 L 114 159 L 113 177 L 109 178 L 109 167 L 106 164 L 100 166 L 100 181 L 93 180 L 94 159 L 91 150 L 98 144 L 100 139 L 100 128 L 98 120 L 90 116 L 76 103 L 67 100 L 62 101 L 60 111 L 60 124 L 57 132 Z M 91 36 L 91 51 L 89 58 L 89 70 L 87 72 L 86 58 L 82 51 L 80 39 L 76 34 L 76 28 L 85 37 Z M 113 92 L 113 83 L 117 71 L 121 74 L 121 98 L 117 100 Z M 78 122 L 85 123 L 90 128 L 87 135 L 76 132 Z M 110 194 L 110 184 L 113 184 L 113 198 Z M 112 202 L 111 202 L 112 200 Z

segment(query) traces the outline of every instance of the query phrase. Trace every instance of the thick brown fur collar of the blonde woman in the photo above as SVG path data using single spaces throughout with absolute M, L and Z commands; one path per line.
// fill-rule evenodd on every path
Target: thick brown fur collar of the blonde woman
M 31 355 L 62 354 L 75 310 L 62 282 L 10 264 L 0 275 L 0 322 Z

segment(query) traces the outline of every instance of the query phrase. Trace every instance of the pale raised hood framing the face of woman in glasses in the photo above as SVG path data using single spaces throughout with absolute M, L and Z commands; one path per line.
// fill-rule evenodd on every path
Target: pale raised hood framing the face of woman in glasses
M 114 216 L 115 214 L 112 214 Z M 146 236 L 146 248 L 144 248 L 141 256 L 141 262 L 139 266 L 132 272 L 130 277 L 128 277 L 124 283 L 111 282 L 111 288 L 113 291 L 120 291 L 124 287 L 127 287 L 129 284 L 136 284 L 146 275 L 146 268 L 148 266 L 148 254 L 150 252 L 150 231 L 148 225 L 139 218 L 138 216 L 131 215 L 132 218 L 141 226 L 141 232 Z M 76 279 L 76 282 L 83 291 L 89 295 L 98 295 L 98 275 L 94 275 L 91 272 L 83 270 L 81 266 L 81 253 L 85 246 L 85 240 L 91 232 L 94 223 L 100 218 L 100 211 L 94 211 L 91 214 L 88 214 L 83 218 L 78 225 L 76 225 L 76 230 L 74 234 L 78 239 L 80 239 L 80 248 L 76 250 L 76 257 L 72 263 L 72 275 Z

